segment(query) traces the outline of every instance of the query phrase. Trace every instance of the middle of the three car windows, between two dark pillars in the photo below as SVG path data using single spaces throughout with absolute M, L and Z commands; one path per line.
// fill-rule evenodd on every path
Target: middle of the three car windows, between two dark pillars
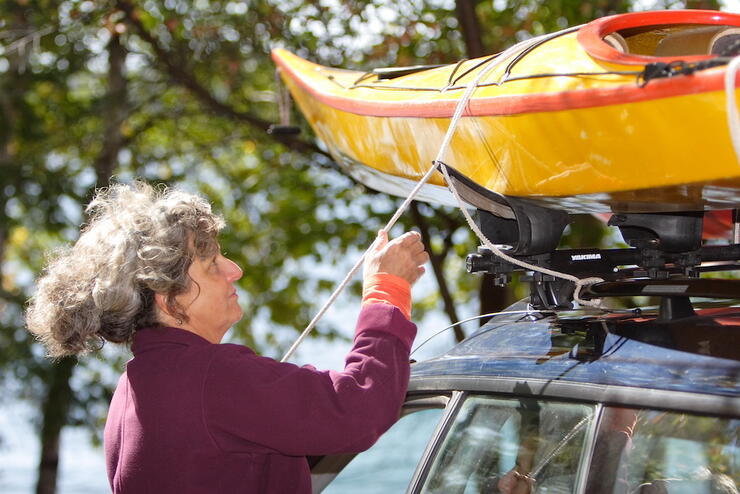
M 469 396 L 425 493 L 570 493 L 595 406 Z

